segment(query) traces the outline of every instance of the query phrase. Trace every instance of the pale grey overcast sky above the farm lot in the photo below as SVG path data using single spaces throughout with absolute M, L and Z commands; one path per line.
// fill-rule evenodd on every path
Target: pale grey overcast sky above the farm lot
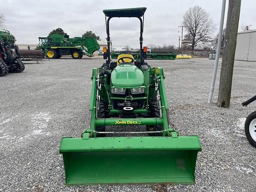
M 70 37 L 86 31 L 106 38 L 103 9 L 147 7 L 144 20 L 144 45 L 178 46 L 184 12 L 195 5 L 204 8 L 213 19 L 218 33 L 222 0 L 0 0 L 6 28 L 16 37 L 16 44 L 37 44 L 39 36 L 48 36 L 62 28 Z M 256 0 L 242 0 L 240 24 L 256 29 Z M 226 4 L 226 15 L 228 0 Z M 226 19 L 224 21 L 226 24 Z M 110 36 L 113 45 L 139 47 L 140 23 L 137 18 L 113 18 Z

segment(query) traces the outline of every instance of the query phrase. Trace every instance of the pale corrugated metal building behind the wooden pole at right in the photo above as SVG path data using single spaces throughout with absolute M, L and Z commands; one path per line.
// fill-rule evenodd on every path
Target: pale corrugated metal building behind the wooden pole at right
M 256 61 L 256 30 L 237 33 L 235 60 Z

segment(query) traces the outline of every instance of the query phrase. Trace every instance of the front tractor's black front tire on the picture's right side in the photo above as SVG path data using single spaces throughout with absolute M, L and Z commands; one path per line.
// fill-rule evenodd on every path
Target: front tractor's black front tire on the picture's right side
M 151 115 L 156 118 L 160 118 L 160 109 L 157 103 L 157 91 L 155 91 L 154 96 L 149 101 L 149 108 L 151 109 Z M 149 126 L 147 125 L 147 131 L 162 131 L 163 127 L 161 125 Z M 162 133 L 148 133 L 149 136 L 163 136 Z

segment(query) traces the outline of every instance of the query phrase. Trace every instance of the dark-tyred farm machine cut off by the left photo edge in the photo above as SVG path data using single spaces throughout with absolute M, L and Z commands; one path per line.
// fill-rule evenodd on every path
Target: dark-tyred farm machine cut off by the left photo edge
M 8 72 L 23 72 L 25 69 L 15 41 L 9 31 L 0 29 L 0 76 Z

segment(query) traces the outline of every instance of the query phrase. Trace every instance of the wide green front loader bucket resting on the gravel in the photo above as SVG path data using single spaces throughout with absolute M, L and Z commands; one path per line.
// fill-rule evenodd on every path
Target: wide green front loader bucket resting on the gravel
M 66 184 L 194 184 L 198 136 L 62 138 Z

